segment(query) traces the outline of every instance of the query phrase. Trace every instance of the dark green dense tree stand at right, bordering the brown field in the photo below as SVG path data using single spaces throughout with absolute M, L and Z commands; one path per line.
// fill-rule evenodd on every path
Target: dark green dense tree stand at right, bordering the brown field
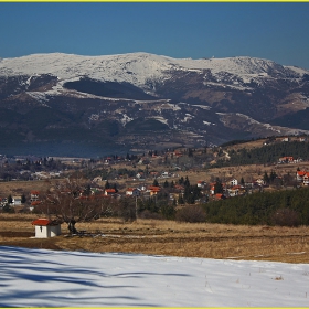
M 213 201 L 203 209 L 210 223 L 309 225 L 309 188 Z

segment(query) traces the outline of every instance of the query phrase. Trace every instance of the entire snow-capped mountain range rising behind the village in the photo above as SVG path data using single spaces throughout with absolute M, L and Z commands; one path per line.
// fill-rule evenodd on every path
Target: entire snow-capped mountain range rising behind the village
M 309 71 L 146 53 L 0 60 L 0 152 L 104 156 L 309 132 Z

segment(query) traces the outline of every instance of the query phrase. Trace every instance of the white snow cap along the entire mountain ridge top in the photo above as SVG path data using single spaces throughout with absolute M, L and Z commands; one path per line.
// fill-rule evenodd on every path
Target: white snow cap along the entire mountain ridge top
M 290 74 L 297 77 L 309 74 L 306 70 L 247 56 L 192 60 L 148 53 L 104 56 L 52 53 L 3 58 L 0 62 L 0 74 L 7 76 L 52 74 L 61 81 L 72 81 L 86 75 L 98 81 L 127 82 L 136 86 L 143 85 L 149 78 L 164 78 L 163 75 L 172 70 L 198 73 L 210 70 L 214 74 L 226 72 L 241 77 L 255 77 L 259 74 Z

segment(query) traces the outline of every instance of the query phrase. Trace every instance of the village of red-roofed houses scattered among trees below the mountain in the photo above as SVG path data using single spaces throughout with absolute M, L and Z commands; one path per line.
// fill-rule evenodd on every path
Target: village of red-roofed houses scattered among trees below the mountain
M 289 140 L 285 138 L 281 142 Z M 269 142 L 264 140 L 263 145 L 266 143 Z M 163 201 L 174 207 L 309 185 L 307 162 L 301 158 L 285 156 L 268 166 L 212 169 L 210 164 L 219 152 L 184 148 L 99 159 L 1 156 L 1 212 L 35 212 L 44 203 L 46 191 L 70 177 L 84 180 L 85 188 L 78 199 L 132 198 Z M 226 151 L 222 153 L 226 156 Z

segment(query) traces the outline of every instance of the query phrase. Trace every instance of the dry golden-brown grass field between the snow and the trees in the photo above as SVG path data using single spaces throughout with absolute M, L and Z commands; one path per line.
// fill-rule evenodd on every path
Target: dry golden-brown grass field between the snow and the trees
M 30 248 L 121 252 L 204 258 L 233 258 L 309 263 L 309 227 L 234 226 L 172 221 L 98 220 L 78 223 L 84 236 L 34 238 L 36 219 L 29 214 L 0 214 L 0 245 Z

